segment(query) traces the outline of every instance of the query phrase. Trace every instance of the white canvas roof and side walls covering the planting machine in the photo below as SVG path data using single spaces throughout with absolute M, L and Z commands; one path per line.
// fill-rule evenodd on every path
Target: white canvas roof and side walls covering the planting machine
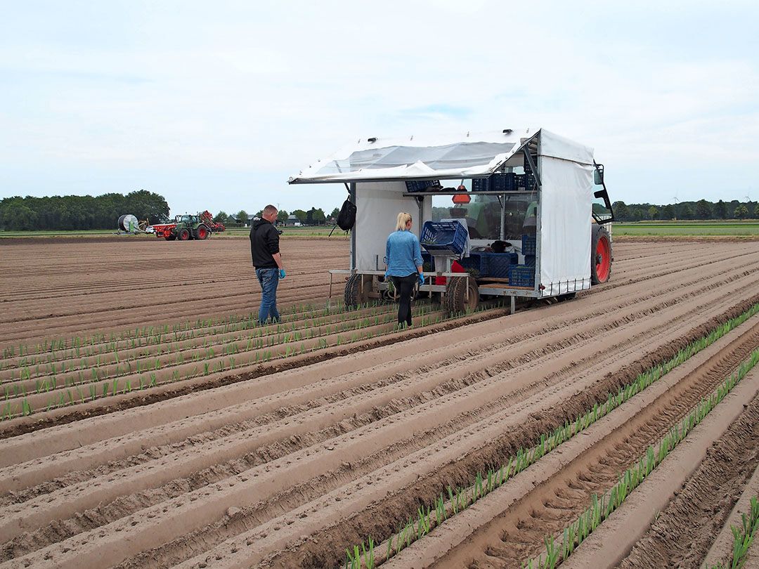
M 590 288 L 593 149 L 548 130 L 525 128 L 455 136 L 358 140 L 290 178 L 290 184 L 350 183 L 357 206 L 351 269 L 376 271 L 395 215 L 431 218 L 431 200 L 409 194 L 405 181 L 485 178 L 537 156 L 535 296 Z M 445 184 L 443 184 L 445 185 Z

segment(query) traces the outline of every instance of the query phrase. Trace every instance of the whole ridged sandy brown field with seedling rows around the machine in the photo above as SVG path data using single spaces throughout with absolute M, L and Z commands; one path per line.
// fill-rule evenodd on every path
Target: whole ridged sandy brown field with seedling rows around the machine
M 403 332 L 392 305 L 324 310 L 345 242 L 283 245 L 292 308 L 262 328 L 247 240 L 0 244 L 0 567 L 732 555 L 759 491 L 759 242 L 622 242 L 573 300 L 419 303 Z

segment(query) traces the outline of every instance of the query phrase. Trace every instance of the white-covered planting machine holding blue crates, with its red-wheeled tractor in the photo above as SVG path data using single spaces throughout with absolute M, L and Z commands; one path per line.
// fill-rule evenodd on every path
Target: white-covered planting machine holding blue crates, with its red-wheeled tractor
M 543 129 L 360 140 L 290 178 L 343 183 L 357 207 L 345 303 L 388 297 L 385 244 L 414 216 L 424 285 L 448 313 L 486 297 L 572 298 L 606 282 L 613 211 L 593 149 Z M 446 184 L 446 181 L 449 181 Z M 451 182 L 452 181 L 452 182 Z

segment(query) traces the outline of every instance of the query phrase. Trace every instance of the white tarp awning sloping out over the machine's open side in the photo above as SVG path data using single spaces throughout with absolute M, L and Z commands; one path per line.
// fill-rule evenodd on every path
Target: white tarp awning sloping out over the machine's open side
M 496 171 L 538 130 L 359 140 L 310 165 L 289 183 L 483 176 Z

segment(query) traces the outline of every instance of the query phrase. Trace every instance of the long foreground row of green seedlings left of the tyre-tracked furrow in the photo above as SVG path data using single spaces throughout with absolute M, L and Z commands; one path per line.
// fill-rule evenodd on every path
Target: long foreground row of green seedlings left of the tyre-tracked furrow
M 429 505 L 427 508 L 421 508 L 420 511 L 417 511 L 416 520 L 413 520 L 410 517 L 408 523 L 402 524 L 398 527 L 395 533 L 392 533 L 389 536 L 383 561 L 391 558 L 398 552 L 401 552 L 408 547 L 408 545 L 411 545 L 411 542 L 414 542 L 429 533 L 434 527 L 439 526 L 443 521 L 448 519 L 448 517 L 469 508 L 480 498 L 483 498 L 485 495 L 493 492 L 494 489 L 502 486 L 509 478 L 521 473 L 524 469 L 530 467 L 535 461 L 539 460 L 550 451 L 553 451 L 562 443 L 572 439 L 572 437 L 578 435 L 578 433 L 583 432 L 597 420 L 605 417 L 611 411 L 616 409 L 616 407 L 619 407 L 630 398 L 635 397 L 635 395 L 638 395 L 638 393 L 645 388 L 649 387 L 654 382 L 657 382 L 667 373 L 672 371 L 672 369 L 682 365 L 682 363 L 685 363 L 685 361 L 689 360 L 695 354 L 698 354 L 698 352 L 709 347 L 757 313 L 759 313 L 759 303 L 754 304 L 739 316 L 735 316 L 735 318 L 727 320 L 724 324 L 718 325 L 703 338 L 691 342 L 691 344 L 682 348 L 682 350 L 678 351 L 675 356 L 666 362 L 661 363 L 658 366 L 653 366 L 647 369 L 644 373 L 639 374 L 635 380 L 619 388 L 619 391 L 617 391 L 616 394 L 609 393 L 606 401 L 603 401 L 601 404 L 594 404 L 590 410 L 587 410 L 587 412 L 582 415 L 578 415 L 574 421 L 567 421 L 564 425 L 557 427 L 553 431 L 543 433 L 540 435 L 537 445 L 528 448 L 527 450 L 520 448 L 517 451 L 517 454 L 509 458 L 508 463 L 490 469 L 484 474 L 478 472 L 474 476 L 474 482 L 468 486 L 458 486 L 455 489 L 449 486 L 447 489 L 444 489 L 435 499 L 433 505 Z M 420 530 L 415 531 L 414 528 L 417 527 L 420 527 Z M 370 542 L 372 544 L 374 543 L 372 536 L 370 536 Z M 361 548 L 363 547 L 364 542 L 361 543 Z M 351 561 L 351 558 L 353 561 Z M 372 559 L 374 560 L 373 557 Z M 354 567 L 357 569 L 357 567 L 361 567 L 361 560 L 357 559 L 355 555 L 346 555 L 345 566 L 351 567 L 351 569 Z

